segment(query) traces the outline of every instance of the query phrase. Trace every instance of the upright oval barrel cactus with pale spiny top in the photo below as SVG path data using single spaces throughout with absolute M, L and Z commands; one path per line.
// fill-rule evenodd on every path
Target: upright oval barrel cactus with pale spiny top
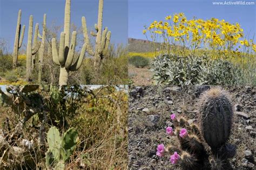
M 230 136 L 233 109 L 224 90 L 213 88 L 200 98 L 201 132 L 214 154 Z

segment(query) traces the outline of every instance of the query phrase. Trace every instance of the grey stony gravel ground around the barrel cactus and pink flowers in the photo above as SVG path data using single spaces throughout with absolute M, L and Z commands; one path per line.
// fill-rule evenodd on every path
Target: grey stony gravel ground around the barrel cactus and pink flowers
M 170 114 L 198 123 L 198 98 L 210 86 L 131 87 L 129 98 L 129 169 L 179 169 L 169 157 L 158 157 L 158 144 L 178 144 L 165 133 L 173 126 Z M 233 169 L 255 169 L 256 88 L 224 87 L 234 105 L 233 128 L 228 143 L 237 147 Z

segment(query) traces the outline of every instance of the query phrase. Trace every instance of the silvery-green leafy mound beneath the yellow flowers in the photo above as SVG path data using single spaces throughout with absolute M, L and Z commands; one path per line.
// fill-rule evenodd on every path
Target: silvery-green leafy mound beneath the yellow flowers
M 240 70 L 226 60 L 211 60 L 207 56 L 159 55 L 152 62 L 153 78 L 157 83 L 238 84 Z

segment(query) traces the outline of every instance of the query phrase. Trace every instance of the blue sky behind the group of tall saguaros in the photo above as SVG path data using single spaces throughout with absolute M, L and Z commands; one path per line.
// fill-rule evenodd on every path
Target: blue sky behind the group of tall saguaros
M 103 9 L 103 26 L 112 32 L 111 43 L 127 43 L 128 29 L 128 0 L 105 0 Z M 64 0 L 0 0 L 0 38 L 8 41 L 9 51 L 14 44 L 18 10 L 22 9 L 22 25 L 26 25 L 23 43 L 28 37 L 29 16 L 33 15 L 34 27 L 43 22 L 44 13 L 47 14 L 47 25 L 53 21 L 56 25 L 64 24 Z M 98 1 L 72 0 L 71 23 L 82 26 L 81 18 L 86 17 L 87 27 L 92 30 L 97 23 Z M 42 28 L 42 26 L 41 26 Z

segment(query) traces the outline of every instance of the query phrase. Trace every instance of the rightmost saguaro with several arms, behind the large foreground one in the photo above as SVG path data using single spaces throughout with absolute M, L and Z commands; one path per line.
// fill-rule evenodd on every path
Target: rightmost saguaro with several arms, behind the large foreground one
M 94 68 L 96 72 L 100 69 L 102 60 L 106 59 L 107 50 L 109 49 L 111 32 L 105 27 L 102 32 L 102 20 L 103 20 L 103 0 L 99 0 L 99 11 L 98 11 L 98 24 L 95 24 L 95 32 L 91 32 L 91 36 L 96 37 L 96 47 L 93 52 L 88 32 L 85 17 L 82 17 L 84 42 L 87 44 L 87 52 L 94 58 Z

